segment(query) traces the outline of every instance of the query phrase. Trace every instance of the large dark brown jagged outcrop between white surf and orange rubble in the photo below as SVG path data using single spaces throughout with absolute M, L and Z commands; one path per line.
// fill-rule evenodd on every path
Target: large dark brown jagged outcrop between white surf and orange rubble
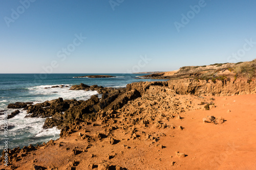
M 103 98 L 99 99 L 97 95 L 93 95 L 87 101 L 63 100 L 62 98 L 46 101 L 26 107 L 27 113 L 31 113 L 26 117 L 47 117 L 43 128 L 57 126 L 61 129 L 70 125 L 75 119 L 92 119 L 100 110 L 106 112 L 109 109 L 121 108 L 128 101 L 140 96 L 137 90 L 126 92 L 125 88 L 103 88 L 97 85 L 89 87 L 102 89 Z

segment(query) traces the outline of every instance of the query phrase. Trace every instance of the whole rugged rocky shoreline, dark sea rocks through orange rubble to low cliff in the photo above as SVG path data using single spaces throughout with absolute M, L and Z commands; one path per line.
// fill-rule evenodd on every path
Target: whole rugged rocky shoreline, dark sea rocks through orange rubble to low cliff
M 134 169 L 133 165 L 120 163 L 118 159 L 125 157 L 129 161 L 129 154 L 142 154 L 147 158 L 145 152 L 148 148 L 162 151 L 166 146 L 159 141 L 164 141 L 166 135 L 172 137 L 173 132 L 178 133 L 177 130 L 184 130 L 184 126 L 179 125 L 179 121 L 184 118 L 181 114 L 207 110 L 207 105 L 210 110 L 215 108 L 212 98 L 207 96 L 254 94 L 255 85 L 255 80 L 248 83 L 243 79 L 232 78 L 216 82 L 195 79 L 139 82 L 128 84 L 126 88 L 105 88 L 81 83 L 70 90 L 97 90 L 101 98 L 93 95 L 87 101 L 59 98 L 35 105 L 10 105 L 27 110 L 29 117 L 47 117 L 44 128 L 57 126 L 61 132 L 60 138 L 55 141 L 9 150 L 10 165 L 7 169 Z M 203 122 L 212 122 L 216 126 L 225 124 L 224 118 L 214 116 L 206 117 Z M 134 142 L 137 144 L 134 145 Z M 141 149 L 137 149 L 136 145 L 140 145 Z M 51 155 L 49 152 L 52 150 L 63 156 L 51 158 L 55 163 L 48 160 L 51 163 L 46 164 L 40 160 L 46 154 Z M 108 152 L 107 156 L 105 152 Z M 68 156 L 65 157 L 65 154 Z M 186 157 L 186 153 L 180 151 L 175 152 L 175 155 Z M 31 158 L 31 162 L 24 165 L 22 162 L 28 158 Z M 62 163 L 56 160 L 67 158 L 69 161 Z M 3 163 L 2 157 L 0 167 L 4 167 Z M 145 168 L 156 168 L 152 163 L 142 164 Z M 174 160 L 170 164 L 177 163 Z

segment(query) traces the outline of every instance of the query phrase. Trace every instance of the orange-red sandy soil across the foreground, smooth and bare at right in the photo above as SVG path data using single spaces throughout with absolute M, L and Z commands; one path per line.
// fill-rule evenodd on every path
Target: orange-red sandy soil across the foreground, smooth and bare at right
M 193 95 L 179 96 L 190 98 L 192 102 L 195 99 Z M 90 163 L 96 165 L 93 168 L 96 170 L 103 162 L 127 169 L 256 169 L 256 94 L 213 98 L 216 107 L 210 110 L 185 111 L 179 114 L 181 119 L 175 115 L 175 118 L 163 120 L 175 129 L 136 125 L 136 134 L 140 136 L 133 139 L 127 137 L 131 127 L 119 128 L 110 132 L 120 140 L 112 145 L 109 137 L 90 141 L 77 139 L 79 132 L 95 136 L 96 132 L 104 133 L 111 128 L 83 125 L 86 132 L 81 129 L 54 141 L 54 145 L 42 146 L 13 165 L 15 169 L 26 170 L 33 164 L 48 169 L 88 169 Z M 221 116 L 226 121 L 219 125 L 203 123 L 208 115 Z M 178 126 L 184 129 L 179 130 Z M 143 134 L 159 137 L 159 140 L 147 139 Z M 81 153 L 74 155 L 73 149 Z M 184 153 L 185 157 L 178 157 L 176 152 Z M 5 167 L 2 164 L 0 168 Z

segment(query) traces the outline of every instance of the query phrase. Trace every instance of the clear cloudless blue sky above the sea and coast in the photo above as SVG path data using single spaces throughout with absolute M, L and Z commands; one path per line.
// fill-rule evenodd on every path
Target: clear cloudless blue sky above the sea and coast
M 255 0 L 2 0 L 0 73 L 170 71 L 250 61 L 255 9 Z

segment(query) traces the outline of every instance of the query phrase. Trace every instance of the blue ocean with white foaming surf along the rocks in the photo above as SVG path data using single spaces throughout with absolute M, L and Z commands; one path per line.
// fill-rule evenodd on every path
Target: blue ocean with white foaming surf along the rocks
M 110 75 L 115 78 L 74 78 L 85 75 Z M 97 91 L 69 90 L 75 84 L 98 85 L 103 87 L 125 87 L 132 82 L 156 81 L 138 79 L 145 74 L 0 74 L 0 151 L 5 148 L 4 141 L 8 140 L 8 148 L 23 148 L 29 144 L 41 144 L 51 139 L 59 138 L 60 130 L 56 127 L 43 129 L 46 118 L 26 117 L 27 112 L 18 109 L 20 113 L 7 120 L 8 133 L 4 133 L 4 113 L 10 114 L 16 109 L 8 109 L 7 105 L 15 102 L 42 103 L 63 98 L 88 100 Z M 157 80 L 159 81 L 159 80 Z M 56 85 L 67 85 L 65 88 L 45 88 Z M 4 110 L 4 111 L 3 111 Z

